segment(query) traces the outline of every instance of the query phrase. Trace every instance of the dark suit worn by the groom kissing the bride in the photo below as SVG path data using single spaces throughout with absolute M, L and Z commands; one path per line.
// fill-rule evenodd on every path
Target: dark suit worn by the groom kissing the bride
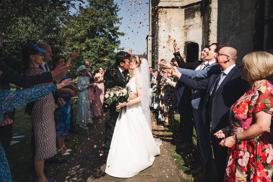
M 125 87 L 127 84 L 127 74 L 128 70 L 124 70 L 124 79 L 121 75 L 119 67 L 114 64 L 107 68 L 104 73 L 104 89 L 107 91 L 108 88 L 113 88 L 115 86 Z M 116 112 L 115 103 L 112 103 L 110 106 L 106 105 L 106 123 L 105 123 L 105 158 L 107 160 L 111 140 L 113 137 L 117 117 L 119 116 L 119 112 Z

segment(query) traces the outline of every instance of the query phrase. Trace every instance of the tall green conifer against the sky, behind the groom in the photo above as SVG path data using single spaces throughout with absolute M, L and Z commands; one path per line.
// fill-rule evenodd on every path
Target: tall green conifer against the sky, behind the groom
M 113 0 L 88 0 L 88 5 L 79 8 L 79 14 L 71 16 L 65 26 L 69 39 L 67 50 L 80 49 L 80 58 L 74 62 L 83 65 L 84 60 L 90 61 L 94 69 L 99 66 L 105 69 L 114 63 L 115 50 L 119 48 L 118 32 L 120 20 L 117 16 L 118 5 Z

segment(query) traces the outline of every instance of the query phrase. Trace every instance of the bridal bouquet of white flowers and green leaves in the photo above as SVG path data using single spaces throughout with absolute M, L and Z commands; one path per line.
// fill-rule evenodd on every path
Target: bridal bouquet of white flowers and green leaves
M 110 105 L 113 102 L 124 102 L 129 98 L 129 94 L 127 93 L 126 88 L 115 86 L 113 88 L 108 88 L 104 95 L 106 104 Z M 117 112 L 121 111 L 120 109 L 116 109 Z

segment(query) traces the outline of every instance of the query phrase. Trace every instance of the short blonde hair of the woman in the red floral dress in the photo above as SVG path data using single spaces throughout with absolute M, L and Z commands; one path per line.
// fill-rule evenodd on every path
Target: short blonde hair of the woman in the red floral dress
M 254 51 L 243 57 L 244 68 L 249 80 L 268 79 L 273 74 L 273 55 Z

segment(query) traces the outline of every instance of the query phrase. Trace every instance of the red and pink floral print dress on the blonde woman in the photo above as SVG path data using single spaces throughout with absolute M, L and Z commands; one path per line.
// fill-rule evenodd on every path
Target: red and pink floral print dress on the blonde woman
M 273 85 L 265 80 L 249 88 L 230 109 L 231 135 L 241 133 L 255 123 L 254 111 L 271 111 Z M 271 109 L 271 110 L 270 110 Z M 272 181 L 273 144 L 270 129 L 261 135 L 237 142 L 229 148 L 224 181 Z

